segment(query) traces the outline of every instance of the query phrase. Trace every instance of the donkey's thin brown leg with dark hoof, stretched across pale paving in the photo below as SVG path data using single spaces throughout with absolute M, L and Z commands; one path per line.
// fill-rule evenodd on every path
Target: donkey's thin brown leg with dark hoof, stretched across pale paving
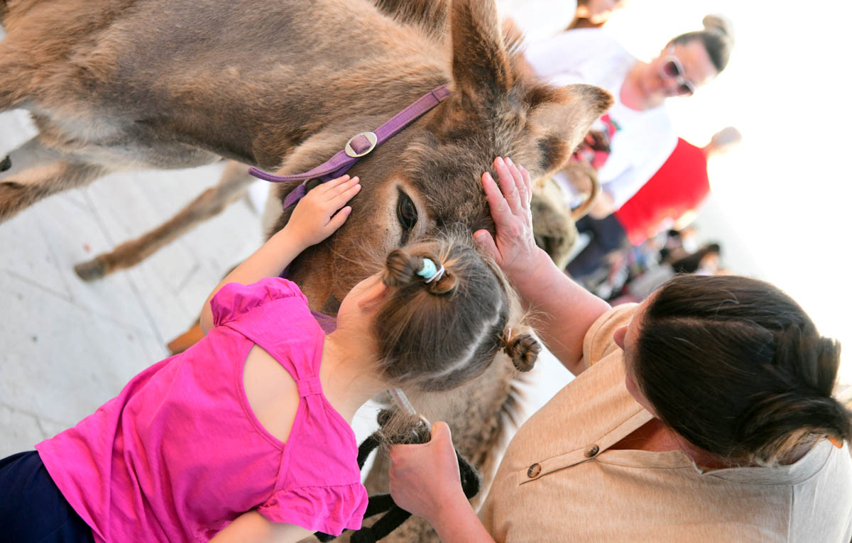
M 74 271 L 77 271 L 84 281 L 92 281 L 113 271 L 139 264 L 202 220 L 222 212 L 229 203 L 245 194 L 246 187 L 254 179 L 248 174 L 248 166 L 245 164 L 233 161 L 227 163 L 216 186 L 202 192 L 170 220 L 141 237 L 122 243 L 111 253 L 100 254 L 92 260 L 81 262 L 74 266 Z

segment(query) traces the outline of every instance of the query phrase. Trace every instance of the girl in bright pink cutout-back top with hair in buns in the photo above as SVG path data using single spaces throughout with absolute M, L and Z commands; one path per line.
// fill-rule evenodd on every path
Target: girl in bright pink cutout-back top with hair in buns
M 458 386 L 501 346 L 528 369 L 538 345 L 527 334 L 505 340 L 517 302 L 469 237 L 395 249 L 323 333 L 296 284 L 278 276 L 343 225 L 359 190 L 344 175 L 310 191 L 210 294 L 204 340 L 37 453 L 0 460 L 3 532 L 222 542 L 358 529 L 367 496 L 349 423 L 361 404 L 392 386 Z

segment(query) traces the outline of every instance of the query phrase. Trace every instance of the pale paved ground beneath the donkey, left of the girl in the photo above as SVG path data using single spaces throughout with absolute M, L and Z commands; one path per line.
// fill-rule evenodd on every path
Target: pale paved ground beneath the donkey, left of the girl
M 26 112 L 0 114 L 0 157 L 33 134 Z M 166 357 L 210 289 L 261 243 L 260 214 L 241 201 L 135 268 L 94 283 L 74 273 L 170 217 L 221 169 L 113 174 L 0 224 L 0 458 L 73 426 Z M 539 366 L 533 409 L 567 382 L 552 357 Z M 360 436 L 374 416 L 360 415 Z

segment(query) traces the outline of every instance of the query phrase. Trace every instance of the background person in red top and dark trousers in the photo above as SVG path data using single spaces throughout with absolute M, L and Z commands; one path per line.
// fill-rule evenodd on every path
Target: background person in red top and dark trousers
M 608 253 L 627 241 L 638 247 L 662 227 L 697 209 L 710 193 L 707 160 L 728 152 L 741 139 L 734 127 L 713 134 L 704 147 L 678 138 L 665 163 L 615 213 L 602 218 L 590 214 L 577 221 L 578 231 L 588 232 L 590 241 L 571 260 L 568 272 L 573 277 L 589 276 Z

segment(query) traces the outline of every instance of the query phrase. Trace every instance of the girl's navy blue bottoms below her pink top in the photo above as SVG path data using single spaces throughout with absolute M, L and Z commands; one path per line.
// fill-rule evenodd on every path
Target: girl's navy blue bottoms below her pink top
M 0 460 L 0 543 L 94 543 L 34 450 Z

